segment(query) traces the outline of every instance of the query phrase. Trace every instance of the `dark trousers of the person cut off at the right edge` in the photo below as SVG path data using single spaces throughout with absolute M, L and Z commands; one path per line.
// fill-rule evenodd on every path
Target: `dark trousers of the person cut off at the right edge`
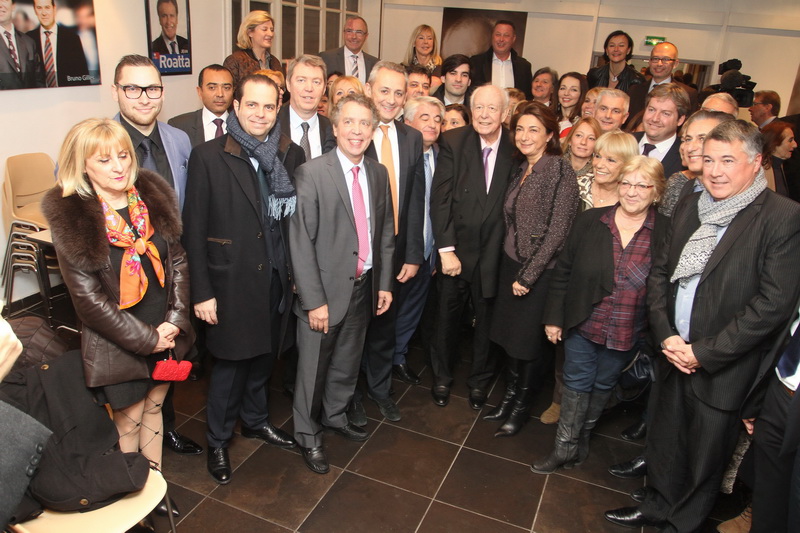
M 755 486 L 751 533 L 800 531 L 800 505 L 790 503 L 793 489 L 800 490 L 797 450 L 781 455 L 791 396 L 776 375 L 767 388 L 764 405 L 756 419 L 753 440 Z M 793 516 L 790 518 L 790 513 Z

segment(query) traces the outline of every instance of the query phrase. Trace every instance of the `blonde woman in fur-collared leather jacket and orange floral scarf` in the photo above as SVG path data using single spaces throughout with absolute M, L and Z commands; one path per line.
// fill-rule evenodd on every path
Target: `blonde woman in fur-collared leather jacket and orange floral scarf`
M 150 379 L 194 339 L 189 276 L 175 192 L 139 169 L 125 129 L 88 119 L 67 134 L 58 183 L 42 211 L 61 275 L 83 323 L 86 385 L 108 403 L 123 452 L 161 468 L 161 404 L 169 382 Z

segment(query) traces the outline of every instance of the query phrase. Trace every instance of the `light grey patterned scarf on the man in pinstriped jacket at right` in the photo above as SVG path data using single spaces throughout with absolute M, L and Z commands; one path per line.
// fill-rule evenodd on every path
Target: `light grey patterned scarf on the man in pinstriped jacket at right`
M 702 274 L 708 259 L 714 253 L 714 248 L 717 247 L 717 229 L 728 226 L 739 211 L 753 203 L 753 200 L 766 188 L 764 169 L 759 169 L 750 187 L 731 198 L 715 202 L 708 190 L 703 189 L 697 202 L 700 227 L 683 247 L 670 282 L 680 281 L 681 287 L 686 287 L 692 276 Z

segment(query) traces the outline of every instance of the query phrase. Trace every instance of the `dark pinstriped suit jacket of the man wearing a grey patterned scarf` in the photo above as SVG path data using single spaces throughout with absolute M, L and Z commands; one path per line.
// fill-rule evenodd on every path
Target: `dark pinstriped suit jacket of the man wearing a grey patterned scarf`
M 694 193 L 677 205 L 666 244 L 653 257 L 647 303 L 656 343 L 677 334 L 678 287 L 670 277 L 700 225 L 699 197 Z M 798 262 L 800 205 L 767 189 L 736 215 L 700 276 L 687 342 L 701 367 L 685 376 L 700 400 L 728 411 L 742 407 L 800 296 Z M 668 372 L 678 370 L 665 364 Z

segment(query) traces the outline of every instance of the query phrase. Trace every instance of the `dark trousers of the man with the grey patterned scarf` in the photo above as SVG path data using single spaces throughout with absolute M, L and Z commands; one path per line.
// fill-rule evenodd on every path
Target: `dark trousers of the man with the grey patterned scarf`
M 655 490 L 639 506 L 669 522 L 665 531 L 680 533 L 697 530 L 714 507 L 742 428 L 737 411 L 703 403 L 690 380 L 673 369 L 657 383 L 646 453 L 647 484 Z

